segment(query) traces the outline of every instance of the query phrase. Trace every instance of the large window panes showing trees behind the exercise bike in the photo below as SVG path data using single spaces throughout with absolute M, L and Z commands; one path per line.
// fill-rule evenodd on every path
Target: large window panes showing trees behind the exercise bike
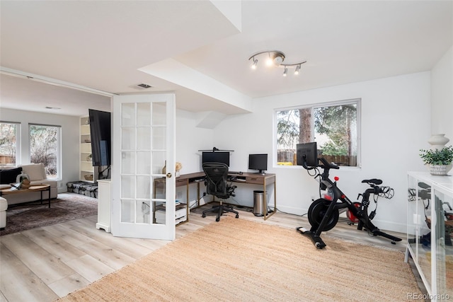
M 316 141 L 319 157 L 360 166 L 360 100 L 279 109 L 275 118 L 277 165 L 296 165 L 296 145 Z

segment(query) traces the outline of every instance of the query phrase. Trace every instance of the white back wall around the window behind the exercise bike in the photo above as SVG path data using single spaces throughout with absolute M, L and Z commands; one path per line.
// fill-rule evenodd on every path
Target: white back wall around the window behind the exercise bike
M 214 145 L 233 149 L 231 170 L 245 171 L 249 153 L 268 153 L 273 161 L 273 112 L 275 108 L 362 99 L 362 168 L 340 168 L 340 187 L 355 199 L 367 187 L 361 181 L 381 178 L 394 187 L 393 199 L 379 199 L 374 219 L 382 229 L 406 232 L 407 171 L 425 170 L 418 156 L 430 138 L 430 72 L 375 81 L 301 91 L 259 98 L 253 114 L 228 117 L 214 129 Z M 277 208 L 305 214 L 311 197 L 318 197 L 317 182 L 301 167 L 268 167 L 277 178 Z M 246 190 L 246 189 L 244 189 Z M 253 194 L 236 199 L 253 204 Z

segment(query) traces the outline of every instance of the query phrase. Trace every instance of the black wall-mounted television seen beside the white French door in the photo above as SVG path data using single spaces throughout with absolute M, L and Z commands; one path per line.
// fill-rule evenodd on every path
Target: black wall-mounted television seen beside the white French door
M 110 165 L 110 112 L 88 109 L 93 166 Z

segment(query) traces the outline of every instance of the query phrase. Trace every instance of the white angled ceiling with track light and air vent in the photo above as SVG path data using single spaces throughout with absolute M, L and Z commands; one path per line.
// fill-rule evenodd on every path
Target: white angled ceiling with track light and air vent
M 2 0 L 0 17 L 1 108 L 76 116 L 110 98 L 69 83 L 174 91 L 177 108 L 231 115 L 253 98 L 429 71 L 453 45 L 453 1 Z M 283 77 L 258 57 L 252 70 L 265 50 L 306 63 Z

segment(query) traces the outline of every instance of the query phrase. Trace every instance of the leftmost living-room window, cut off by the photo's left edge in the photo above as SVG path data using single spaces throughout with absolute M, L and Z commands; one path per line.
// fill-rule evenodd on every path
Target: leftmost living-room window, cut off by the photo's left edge
M 16 165 L 20 162 L 20 128 L 21 124 L 16 122 L 0 122 L 1 165 Z

